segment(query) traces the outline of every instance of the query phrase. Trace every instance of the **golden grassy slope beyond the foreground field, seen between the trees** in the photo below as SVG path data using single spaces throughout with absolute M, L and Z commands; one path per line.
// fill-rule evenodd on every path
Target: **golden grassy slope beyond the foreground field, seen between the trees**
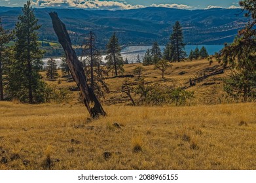
M 134 63 L 129 65 L 124 65 L 124 75 L 134 75 L 133 69 L 141 63 Z M 172 63 L 172 67 L 168 68 L 165 72 L 164 79 L 162 79 L 161 72 L 154 69 L 154 65 L 143 66 L 145 71 L 142 75 L 145 78 L 147 84 L 164 84 L 167 86 L 175 85 L 177 87 L 189 87 L 189 79 L 196 78 L 198 76 L 211 73 L 222 69 L 222 66 L 216 61 L 209 65 L 207 59 L 200 59 L 196 61 L 184 61 L 180 63 Z M 44 77 L 46 73 L 41 73 Z M 187 105 L 215 105 L 219 103 L 229 103 L 230 99 L 227 98 L 226 93 L 223 92 L 223 78 L 230 74 L 229 70 L 226 70 L 225 73 L 221 75 L 210 76 L 201 82 L 196 83 L 195 86 L 187 88 L 187 91 L 194 92 L 194 98 L 187 103 Z M 60 75 L 62 75 L 60 73 Z M 46 79 L 46 78 L 45 78 Z M 121 87 L 122 82 L 127 78 L 113 78 L 111 75 L 105 82 L 108 84 L 110 93 L 106 93 L 105 100 L 103 103 L 105 105 L 130 105 L 130 101 L 122 97 Z M 136 87 L 137 76 L 134 78 L 129 78 Z M 58 81 L 61 81 L 61 84 L 58 84 Z M 55 85 L 58 88 L 75 88 L 75 82 L 69 82 L 67 78 L 59 78 L 55 82 L 47 81 L 48 84 Z M 76 92 L 73 92 L 73 103 L 77 102 L 78 95 Z M 138 97 L 132 93 L 133 97 Z

